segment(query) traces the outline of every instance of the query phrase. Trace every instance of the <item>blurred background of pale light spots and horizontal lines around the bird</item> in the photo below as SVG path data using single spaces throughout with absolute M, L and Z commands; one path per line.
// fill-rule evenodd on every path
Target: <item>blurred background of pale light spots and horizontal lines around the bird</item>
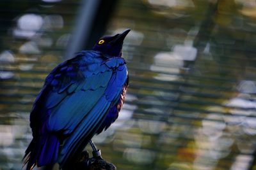
M 20 169 L 49 71 L 130 28 L 120 117 L 93 140 L 117 169 L 256 169 L 255 0 L 1 0 L 0 169 Z

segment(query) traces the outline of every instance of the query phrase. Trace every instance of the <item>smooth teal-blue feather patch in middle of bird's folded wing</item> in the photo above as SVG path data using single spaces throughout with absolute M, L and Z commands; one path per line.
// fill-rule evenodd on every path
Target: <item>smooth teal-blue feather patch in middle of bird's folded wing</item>
M 68 134 L 92 110 L 95 102 L 99 101 L 105 88 L 76 92 L 61 102 L 49 117 L 49 131 L 63 131 Z

